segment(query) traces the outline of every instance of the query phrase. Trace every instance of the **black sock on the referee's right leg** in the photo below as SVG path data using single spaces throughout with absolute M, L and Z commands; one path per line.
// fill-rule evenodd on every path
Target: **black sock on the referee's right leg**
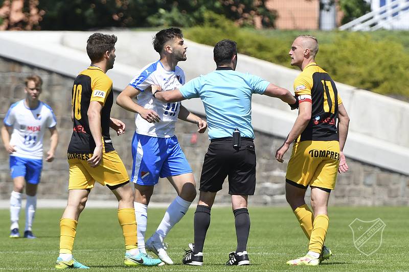
M 250 216 L 246 208 L 233 211 L 236 224 L 237 249 L 236 252 L 246 251 L 248 233 L 250 232 Z

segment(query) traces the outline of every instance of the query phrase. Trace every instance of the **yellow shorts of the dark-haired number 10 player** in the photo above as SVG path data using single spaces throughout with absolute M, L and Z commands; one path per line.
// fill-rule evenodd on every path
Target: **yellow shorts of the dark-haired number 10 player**
M 101 163 L 93 168 L 87 160 L 93 154 L 69 153 L 70 181 L 68 189 L 91 189 L 95 181 L 102 185 L 116 186 L 129 180 L 125 165 L 116 151 L 102 154 Z

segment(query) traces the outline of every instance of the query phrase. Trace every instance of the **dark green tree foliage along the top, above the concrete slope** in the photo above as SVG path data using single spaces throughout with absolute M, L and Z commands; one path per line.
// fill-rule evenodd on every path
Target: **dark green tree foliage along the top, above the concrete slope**
M 21 19 L 25 25 L 36 8 L 39 19 L 32 28 L 41 30 L 89 30 L 101 28 L 135 28 L 203 24 L 205 16 L 219 14 L 239 26 L 272 27 L 275 13 L 265 8 L 265 0 L 16 0 L 21 3 Z M 11 0 L 4 1 L 4 5 Z M 28 10 L 27 7 L 32 7 Z M 1 7 L 1 5 L 0 5 Z M 2 17 L 2 16 L 0 16 Z M 7 20 L 5 16 L 0 18 Z M 10 29 L 8 24 L 6 29 Z M 31 29 L 32 29 L 31 28 Z

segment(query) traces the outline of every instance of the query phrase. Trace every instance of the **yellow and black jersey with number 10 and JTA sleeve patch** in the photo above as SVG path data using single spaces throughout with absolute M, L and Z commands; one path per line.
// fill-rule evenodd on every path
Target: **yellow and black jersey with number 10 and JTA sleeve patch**
M 69 153 L 93 153 L 95 141 L 89 130 L 87 111 L 91 101 L 102 104 L 101 131 L 103 152 L 113 151 L 109 136 L 110 113 L 113 103 L 112 80 L 103 70 L 89 66 L 74 80 L 72 107 L 74 112 L 74 131 L 68 146 Z

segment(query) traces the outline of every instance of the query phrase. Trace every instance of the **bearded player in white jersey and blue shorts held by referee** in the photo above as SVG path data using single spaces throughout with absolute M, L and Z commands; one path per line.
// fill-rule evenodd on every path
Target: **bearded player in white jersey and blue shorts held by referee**
M 148 204 L 158 179 L 167 178 L 177 192 L 156 232 L 146 241 L 146 249 L 162 261 L 173 264 L 166 252 L 164 239 L 186 214 L 196 197 L 192 169 L 174 135 L 175 122 L 181 119 L 196 123 L 198 133 L 206 131 L 207 122 L 189 112 L 180 102 L 163 103 L 152 97 L 151 85 L 176 89 L 185 84 L 185 73 L 177 66 L 186 60 L 186 48 L 180 29 L 170 28 L 156 33 L 153 47 L 160 60 L 141 69 L 118 95 L 117 104 L 135 112 L 136 131 L 132 139 L 132 178 L 135 186 L 135 214 L 138 222 L 138 247 L 145 253 Z M 132 98 L 138 97 L 138 104 Z

